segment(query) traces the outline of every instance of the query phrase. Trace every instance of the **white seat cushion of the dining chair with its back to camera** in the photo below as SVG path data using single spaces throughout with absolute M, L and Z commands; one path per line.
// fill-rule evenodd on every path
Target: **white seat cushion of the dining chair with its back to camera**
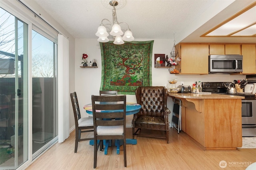
M 98 135 L 122 135 L 124 133 L 123 126 L 98 126 Z

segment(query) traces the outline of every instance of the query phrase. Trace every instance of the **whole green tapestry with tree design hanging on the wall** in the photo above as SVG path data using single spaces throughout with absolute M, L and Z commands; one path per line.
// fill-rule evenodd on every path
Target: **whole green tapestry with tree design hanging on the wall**
M 152 86 L 152 48 L 154 41 L 132 41 L 115 45 L 100 43 L 102 75 L 100 90 L 135 94 L 139 86 Z

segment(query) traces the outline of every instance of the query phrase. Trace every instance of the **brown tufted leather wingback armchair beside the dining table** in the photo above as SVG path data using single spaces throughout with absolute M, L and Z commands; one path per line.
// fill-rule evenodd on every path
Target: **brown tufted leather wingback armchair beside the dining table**
M 137 103 L 141 105 L 132 119 L 132 135 L 142 137 L 163 138 L 169 143 L 170 110 L 167 108 L 167 89 L 163 86 L 141 86 L 135 91 Z M 135 132 L 135 128 L 138 128 Z M 141 129 L 165 131 L 165 135 L 138 133 Z M 159 133 L 158 133 L 159 134 Z

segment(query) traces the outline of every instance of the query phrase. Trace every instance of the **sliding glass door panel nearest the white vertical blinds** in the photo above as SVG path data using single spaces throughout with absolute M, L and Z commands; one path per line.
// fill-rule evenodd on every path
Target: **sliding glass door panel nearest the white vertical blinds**
M 36 29 L 36 28 L 35 28 Z M 56 48 L 57 45 L 32 30 L 32 150 L 37 156 L 57 136 Z

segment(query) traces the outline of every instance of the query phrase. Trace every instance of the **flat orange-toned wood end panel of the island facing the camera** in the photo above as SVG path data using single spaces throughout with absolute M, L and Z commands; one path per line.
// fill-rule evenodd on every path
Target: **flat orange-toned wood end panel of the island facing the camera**
M 206 99 L 204 107 L 206 150 L 242 147 L 242 101 Z

